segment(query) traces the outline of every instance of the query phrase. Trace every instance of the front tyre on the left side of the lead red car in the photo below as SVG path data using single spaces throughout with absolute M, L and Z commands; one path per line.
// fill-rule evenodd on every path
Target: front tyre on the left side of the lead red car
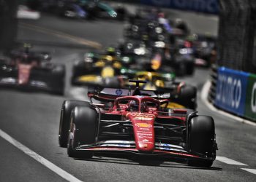
M 84 144 L 95 143 L 97 127 L 97 111 L 90 106 L 79 106 L 72 110 L 71 124 L 69 129 L 69 139 L 67 154 L 74 158 L 91 158 L 92 151 L 79 151 L 76 147 Z

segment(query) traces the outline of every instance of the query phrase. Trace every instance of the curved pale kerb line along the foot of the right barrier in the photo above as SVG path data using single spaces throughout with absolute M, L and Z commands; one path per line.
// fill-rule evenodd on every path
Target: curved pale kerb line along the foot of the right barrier
M 244 122 L 246 124 L 250 124 L 253 126 L 256 126 L 255 122 L 251 122 L 249 120 L 243 119 L 241 117 L 238 116 L 234 116 L 233 114 L 229 114 L 225 111 L 219 110 L 217 108 L 215 108 L 211 103 L 208 102 L 207 96 L 208 96 L 208 90 L 210 90 L 211 87 L 211 82 L 208 80 L 204 85 L 203 85 L 203 89 L 201 92 L 201 100 L 203 100 L 203 103 L 206 104 L 206 106 L 211 110 L 211 111 L 215 111 L 219 114 L 222 114 L 223 116 L 227 116 L 230 117 L 231 119 L 235 119 L 238 122 Z

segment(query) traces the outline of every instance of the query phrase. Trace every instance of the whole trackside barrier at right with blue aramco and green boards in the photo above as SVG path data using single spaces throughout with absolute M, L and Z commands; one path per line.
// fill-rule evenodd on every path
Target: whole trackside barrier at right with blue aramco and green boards
M 256 75 L 213 66 L 208 100 L 217 108 L 256 121 Z

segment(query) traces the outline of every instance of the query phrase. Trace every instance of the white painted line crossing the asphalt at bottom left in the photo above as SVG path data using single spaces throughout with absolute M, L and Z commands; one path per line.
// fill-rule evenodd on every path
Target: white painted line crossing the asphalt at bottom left
M 64 178 L 67 181 L 72 181 L 72 182 L 81 182 L 78 178 L 75 178 L 75 176 L 70 175 L 66 171 L 62 170 L 60 167 L 54 165 L 47 159 L 41 157 L 39 154 L 35 153 L 34 151 L 31 151 L 26 146 L 23 146 L 22 143 L 16 141 L 14 138 L 12 138 L 10 135 L 8 135 L 6 132 L 0 129 L 0 136 L 1 138 L 4 138 L 6 141 L 11 143 L 13 146 L 17 147 L 20 149 L 20 151 L 23 151 L 25 154 L 29 155 L 33 159 L 35 159 L 37 162 L 41 163 L 45 167 L 48 167 L 50 170 L 52 170 L 54 173 L 58 174 L 61 176 L 61 178 Z

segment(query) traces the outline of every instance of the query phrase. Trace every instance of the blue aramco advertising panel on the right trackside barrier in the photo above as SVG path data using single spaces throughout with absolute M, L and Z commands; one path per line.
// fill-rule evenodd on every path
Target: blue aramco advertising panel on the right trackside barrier
M 238 116 L 244 116 L 249 74 L 221 67 L 218 69 L 214 104 Z

